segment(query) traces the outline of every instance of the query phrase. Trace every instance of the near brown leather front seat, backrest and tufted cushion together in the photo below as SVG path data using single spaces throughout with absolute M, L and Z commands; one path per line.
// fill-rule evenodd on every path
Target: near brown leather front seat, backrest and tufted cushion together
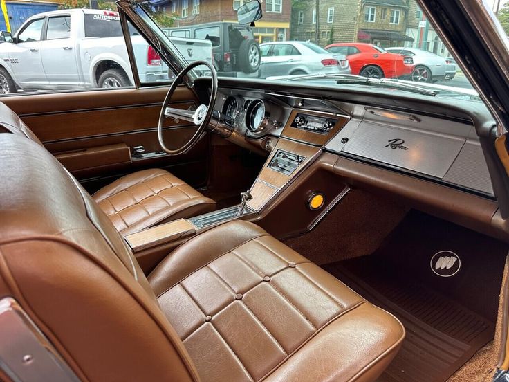
M 11 134 L 0 147 L 0 298 L 80 379 L 374 381 L 398 351 L 396 318 L 248 222 L 189 239 L 147 280 L 53 156 Z

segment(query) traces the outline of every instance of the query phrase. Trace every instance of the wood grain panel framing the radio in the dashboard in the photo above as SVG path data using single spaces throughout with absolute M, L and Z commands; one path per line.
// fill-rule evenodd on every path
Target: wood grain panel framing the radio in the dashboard
M 328 131 L 328 134 L 319 134 L 313 131 L 295 129 L 295 127 L 292 127 L 291 125 L 293 120 L 295 120 L 297 113 L 309 114 L 311 116 L 321 116 L 326 118 L 335 118 L 337 119 L 337 122 L 331 131 Z M 336 114 L 332 113 L 320 113 L 318 111 L 294 109 L 292 113 L 290 113 L 290 118 L 288 118 L 288 122 L 286 122 L 286 125 L 281 132 L 281 137 L 292 138 L 299 140 L 300 142 L 310 143 L 311 145 L 323 146 L 328 142 L 328 140 L 331 140 L 331 138 L 335 136 L 335 134 L 340 131 L 344 125 L 346 125 L 346 122 L 348 122 L 349 119 L 350 118 L 348 117 L 337 116 Z

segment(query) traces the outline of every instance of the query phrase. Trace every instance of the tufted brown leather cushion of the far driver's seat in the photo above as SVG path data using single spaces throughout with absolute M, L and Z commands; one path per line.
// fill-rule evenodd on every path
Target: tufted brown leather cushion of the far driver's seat
M 214 210 L 216 202 L 165 170 L 134 172 L 92 195 L 122 235 Z

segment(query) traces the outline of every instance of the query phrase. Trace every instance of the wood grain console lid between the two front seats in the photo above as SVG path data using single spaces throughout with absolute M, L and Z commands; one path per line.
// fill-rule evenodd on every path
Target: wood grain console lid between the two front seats
M 185 219 L 170 221 L 160 226 L 147 228 L 138 233 L 127 235 L 125 239 L 133 252 L 142 251 L 146 248 L 157 246 L 158 244 L 172 242 L 177 239 L 192 235 L 196 232 L 196 227 Z

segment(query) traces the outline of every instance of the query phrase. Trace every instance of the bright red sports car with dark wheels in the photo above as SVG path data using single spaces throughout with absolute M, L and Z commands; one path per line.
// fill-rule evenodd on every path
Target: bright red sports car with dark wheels
M 414 60 L 389 53 L 380 46 L 360 42 L 340 42 L 325 47 L 331 53 L 346 55 L 352 74 L 372 78 L 410 78 Z

